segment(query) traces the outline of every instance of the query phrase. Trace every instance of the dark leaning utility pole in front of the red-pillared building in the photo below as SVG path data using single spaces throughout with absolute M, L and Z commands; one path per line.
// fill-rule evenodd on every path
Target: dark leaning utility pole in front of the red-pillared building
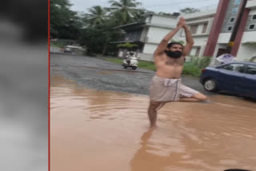
M 246 9 L 246 3 L 247 3 L 247 0 L 241 0 L 242 4 L 240 4 L 240 8 L 238 10 L 238 17 L 236 19 L 236 22 L 234 23 L 234 29 L 232 31 L 232 34 L 230 36 L 230 42 L 227 46 L 227 50 L 228 50 L 228 54 L 230 54 L 231 50 L 232 50 L 232 47 L 234 46 L 234 40 L 237 36 L 237 33 L 238 33 L 238 28 L 240 26 L 240 23 L 241 23 L 241 20 L 242 20 L 242 15 L 244 13 L 244 10 Z

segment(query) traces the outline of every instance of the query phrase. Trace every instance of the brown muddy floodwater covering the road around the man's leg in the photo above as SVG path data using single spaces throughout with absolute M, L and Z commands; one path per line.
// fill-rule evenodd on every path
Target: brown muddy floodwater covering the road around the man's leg
M 237 97 L 174 102 L 149 129 L 147 95 L 51 78 L 51 171 L 256 170 L 256 105 Z

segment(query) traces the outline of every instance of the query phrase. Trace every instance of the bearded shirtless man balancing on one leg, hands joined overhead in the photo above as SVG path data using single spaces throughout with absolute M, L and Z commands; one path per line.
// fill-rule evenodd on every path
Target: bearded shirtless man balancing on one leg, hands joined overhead
M 178 42 L 170 42 L 178 30 L 186 33 L 186 46 Z M 180 18 L 177 27 L 162 39 L 154 51 L 156 75 L 150 84 L 150 106 L 148 115 L 150 127 L 156 126 L 157 111 L 170 101 L 206 101 L 207 97 L 181 83 L 181 75 L 186 55 L 190 53 L 194 41 L 186 20 Z

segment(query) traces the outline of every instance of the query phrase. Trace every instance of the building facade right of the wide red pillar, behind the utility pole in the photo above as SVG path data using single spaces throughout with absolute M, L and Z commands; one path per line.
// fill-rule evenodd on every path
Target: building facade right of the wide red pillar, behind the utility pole
M 222 0 L 223 1 L 223 0 Z M 221 2 L 221 1 L 220 1 Z M 218 41 L 214 49 L 214 57 L 226 53 L 226 46 L 230 41 L 230 36 L 234 30 L 234 23 L 238 18 L 238 11 L 241 6 L 241 0 L 230 0 L 225 11 L 226 14 L 218 19 L 223 19 L 222 30 L 218 34 Z M 217 18 L 216 18 L 217 19 Z M 256 1 L 248 1 L 246 10 L 242 15 L 242 22 L 238 27 L 237 36 L 234 41 L 234 47 L 231 53 L 236 57 L 236 61 L 256 62 Z

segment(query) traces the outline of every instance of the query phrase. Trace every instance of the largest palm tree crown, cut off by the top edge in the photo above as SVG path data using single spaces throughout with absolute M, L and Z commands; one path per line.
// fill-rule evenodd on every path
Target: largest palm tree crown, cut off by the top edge
M 119 2 L 110 0 L 109 2 L 111 7 L 107 9 L 120 25 L 133 22 L 134 14 L 138 10 L 136 7 L 141 5 L 141 2 L 136 0 L 119 0 Z

